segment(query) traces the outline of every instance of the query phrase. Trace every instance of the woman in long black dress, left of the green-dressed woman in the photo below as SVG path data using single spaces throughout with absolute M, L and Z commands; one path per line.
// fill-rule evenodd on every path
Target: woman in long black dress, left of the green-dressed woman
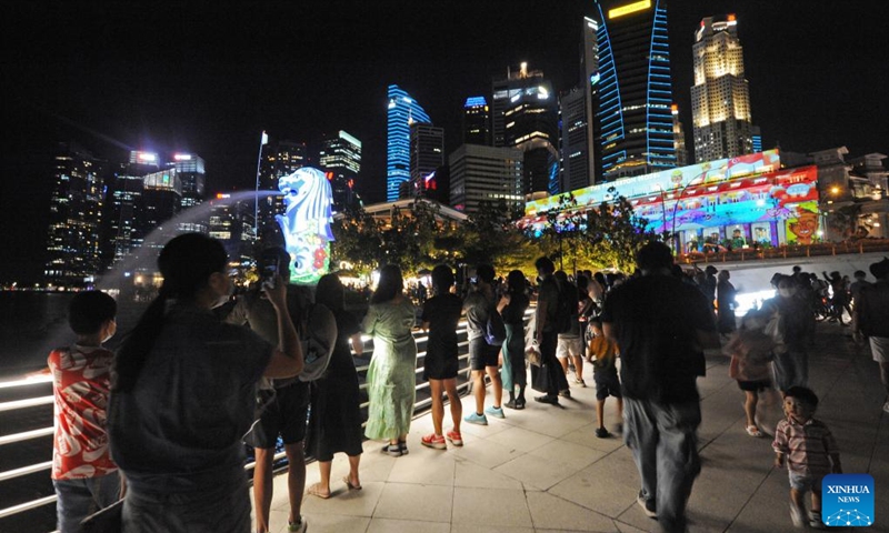
M 343 306 L 344 289 L 336 274 L 318 281 L 314 302 L 327 306 L 337 320 L 337 343 L 330 355 L 327 372 L 312 385 L 312 410 L 309 420 L 308 452 L 318 460 L 321 481 L 309 487 L 309 494 L 330 497 L 330 470 L 333 454 L 349 456 L 349 475 L 342 479 L 346 486 L 361 489 L 358 464 L 361 461 L 361 408 L 358 372 L 350 346 L 357 354 L 363 352 L 361 326 Z

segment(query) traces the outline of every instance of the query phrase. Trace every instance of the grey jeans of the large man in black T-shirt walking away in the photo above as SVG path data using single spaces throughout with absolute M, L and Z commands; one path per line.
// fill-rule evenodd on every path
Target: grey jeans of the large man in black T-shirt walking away
M 701 471 L 698 456 L 700 403 L 623 399 L 623 441 L 642 480 L 642 497 L 655 500 L 666 532 L 686 531 L 686 504 Z

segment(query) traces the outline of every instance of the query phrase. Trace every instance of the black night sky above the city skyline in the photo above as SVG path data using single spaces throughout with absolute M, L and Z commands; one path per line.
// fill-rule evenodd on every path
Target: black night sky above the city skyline
M 449 153 L 465 99 L 487 94 L 508 66 L 528 61 L 558 91 L 578 83 L 581 18 L 596 12 L 591 0 L 190 3 L 3 8 L 0 281 L 41 270 L 57 141 L 112 161 L 190 150 L 219 191 L 252 187 L 262 130 L 311 145 L 343 129 L 363 142 L 359 190 L 380 201 L 389 83 L 446 129 Z M 729 12 L 763 147 L 889 153 L 882 1 L 673 0 L 673 94 L 689 148 L 693 31 Z

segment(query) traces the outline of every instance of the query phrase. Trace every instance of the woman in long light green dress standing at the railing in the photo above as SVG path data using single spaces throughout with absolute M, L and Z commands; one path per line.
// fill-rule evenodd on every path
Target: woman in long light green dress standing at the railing
M 413 305 L 403 294 L 401 270 L 393 264 L 383 266 L 361 324 L 361 330 L 373 336 L 364 435 L 388 440 L 382 452 L 393 457 L 408 453 L 406 440 L 417 396 L 417 343 L 411 334 L 414 316 Z

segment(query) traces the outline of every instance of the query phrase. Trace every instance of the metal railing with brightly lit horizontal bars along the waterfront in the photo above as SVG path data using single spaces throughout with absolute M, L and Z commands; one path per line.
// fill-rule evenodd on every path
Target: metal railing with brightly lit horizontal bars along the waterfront
M 529 315 L 530 315 L 531 312 L 532 312 L 532 310 L 529 309 L 528 313 L 526 314 L 526 321 L 529 319 Z M 457 330 L 458 339 L 459 338 L 463 338 L 466 334 L 467 334 L 466 322 L 461 321 L 459 323 L 458 330 Z M 427 340 L 428 340 L 428 338 L 426 336 L 426 333 L 422 332 L 421 330 L 416 330 L 413 332 L 413 336 L 414 336 L 414 341 L 417 342 L 417 344 L 422 344 L 422 343 L 427 342 Z M 368 342 L 371 341 L 371 339 L 369 336 L 363 336 L 362 340 L 364 341 L 366 345 L 368 344 Z M 468 361 L 468 359 L 469 359 L 469 352 L 468 352 L 469 351 L 469 341 L 465 340 L 465 341 L 458 342 L 458 351 L 459 351 L 458 352 L 459 353 L 458 361 L 460 363 L 462 363 L 463 361 Z M 366 351 L 362 356 L 368 356 L 369 354 L 372 354 L 372 350 Z M 422 375 L 423 366 L 421 366 L 419 364 L 419 361 L 421 359 L 423 359 L 424 356 L 426 356 L 426 351 L 424 350 L 423 351 L 418 351 L 418 353 L 417 353 L 418 364 L 417 364 L 417 370 L 414 372 L 416 374 Z M 361 364 L 361 365 L 356 366 L 356 370 L 358 371 L 358 373 L 360 375 L 361 374 L 367 375 L 368 368 L 369 368 L 369 364 Z M 466 372 L 466 374 L 468 376 L 468 374 L 469 374 L 469 364 L 468 363 L 466 365 L 466 369 L 463 369 L 461 372 Z M 487 380 L 487 378 L 486 378 L 486 380 Z M 0 390 L 2 390 L 2 389 L 16 389 L 16 388 L 21 388 L 21 386 L 29 386 L 29 385 L 39 384 L 39 383 L 49 383 L 51 381 L 52 381 L 52 378 L 50 375 L 46 375 L 46 374 L 36 375 L 36 376 L 28 376 L 28 378 L 23 378 L 23 379 L 20 379 L 20 380 L 0 382 Z M 367 385 L 367 381 L 364 381 L 363 379 L 361 381 L 362 382 L 359 384 L 359 389 L 361 391 L 366 391 L 367 386 L 368 386 Z M 421 390 L 427 389 L 427 388 L 429 388 L 429 382 L 428 381 L 422 381 L 421 383 L 416 385 L 416 390 L 417 391 L 421 391 Z M 465 391 L 468 391 L 470 388 L 471 388 L 471 381 L 468 380 L 468 379 L 467 379 L 467 381 L 465 383 L 458 384 L 458 386 L 457 386 L 458 391 L 461 394 Z M 52 395 L 37 396 L 37 398 L 24 399 L 24 400 L 14 400 L 14 401 L 0 403 L 0 412 L 16 411 L 16 410 L 20 410 L 20 409 L 28 409 L 28 408 L 40 406 L 40 405 L 49 405 L 49 404 L 52 404 L 52 403 L 53 403 L 53 396 Z M 431 403 L 432 403 L 431 398 L 426 398 L 426 399 L 417 401 L 413 404 L 414 416 L 418 416 L 419 414 L 422 414 L 423 410 L 426 408 L 430 406 Z M 362 402 L 360 404 L 360 408 L 361 409 L 366 409 L 368 406 L 368 404 L 369 404 L 369 402 Z M 361 423 L 362 428 L 364 425 L 367 425 L 367 420 Z M 0 446 L 12 444 L 12 443 L 16 443 L 16 442 L 22 442 L 22 441 L 28 441 L 28 440 L 32 440 L 32 439 L 39 439 L 39 438 L 52 435 L 52 433 L 53 433 L 53 428 L 50 426 L 50 428 L 39 428 L 39 429 L 23 431 L 23 432 L 19 432 L 19 433 L 11 433 L 11 434 L 7 434 L 7 435 L 0 435 Z M 52 455 L 52 449 L 50 446 L 47 450 L 47 456 L 51 456 L 51 455 Z M 284 457 L 286 457 L 286 453 L 284 452 L 279 452 L 279 453 L 276 453 L 273 455 L 273 460 L 272 461 L 278 462 L 278 461 L 281 461 Z M 33 474 L 36 472 L 50 470 L 51 467 L 52 467 L 52 461 L 46 461 L 46 462 L 40 462 L 40 463 L 27 465 L 27 466 L 21 466 L 21 467 L 18 467 L 18 469 L 8 470 L 6 472 L 0 472 L 0 482 L 6 482 L 6 481 L 14 480 L 17 477 L 21 477 L 23 475 L 29 475 L 29 474 Z M 244 464 L 243 467 L 244 467 L 246 471 L 250 471 L 250 470 L 256 467 L 256 462 L 254 461 L 248 462 L 247 464 Z M 16 514 L 19 514 L 19 513 L 23 513 L 23 512 L 27 512 L 27 511 L 31 511 L 31 510 L 41 507 L 43 505 L 53 504 L 53 503 L 56 503 L 56 501 L 57 501 L 57 497 L 56 497 L 54 494 L 52 494 L 52 495 L 48 495 L 48 496 L 44 496 L 44 497 L 39 497 L 39 499 L 36 499 L 36 500 L 31 500 L 31 501 L 27 501 L 27 502 L 23 502 L 23 503 L 19 503 L 19 504 L 16 504 L 16 505 L 12 505 L 12 506 L 9 506 L 9 507 L 6 507 L 6 509 L 0 509 L 0 519 L 7 517 L 7 516 L 12 516 L 12 515 L 16 515 Z

